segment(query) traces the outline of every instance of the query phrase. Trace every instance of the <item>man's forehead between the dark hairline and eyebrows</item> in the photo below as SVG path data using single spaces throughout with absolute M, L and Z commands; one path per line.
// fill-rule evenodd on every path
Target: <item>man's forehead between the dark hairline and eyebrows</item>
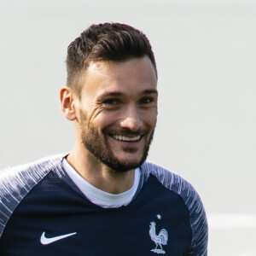
M 108 92 L 137 94 L 156 90 L 157 78 L 148 56 L 127 61 L 93 62 L 82 74 L 82 97 Z

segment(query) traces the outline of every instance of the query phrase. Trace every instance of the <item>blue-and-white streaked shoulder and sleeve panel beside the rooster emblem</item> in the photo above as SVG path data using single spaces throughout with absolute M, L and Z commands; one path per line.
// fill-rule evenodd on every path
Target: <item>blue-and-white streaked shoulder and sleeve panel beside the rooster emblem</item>
M 170 189 L 182 197 L 189 211 L 192 232 L 191 255 L 207 255 L 207 216 L 200 195 L 195 188 L 183 177 L 150 162 L 143 164 L 142 174 L 143 183 L 147 181 L 150 175 L 153 175 L 166 189 Z

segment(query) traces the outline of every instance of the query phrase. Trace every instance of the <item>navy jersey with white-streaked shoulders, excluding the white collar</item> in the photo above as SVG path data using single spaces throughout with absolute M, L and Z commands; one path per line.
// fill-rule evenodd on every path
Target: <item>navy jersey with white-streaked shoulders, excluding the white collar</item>
M 90 202 L 62 169 L 64 155 L 0 172 L 0 254 L 207 255 L 207 218 L 182 177 L 145 162 L 130 204 Z

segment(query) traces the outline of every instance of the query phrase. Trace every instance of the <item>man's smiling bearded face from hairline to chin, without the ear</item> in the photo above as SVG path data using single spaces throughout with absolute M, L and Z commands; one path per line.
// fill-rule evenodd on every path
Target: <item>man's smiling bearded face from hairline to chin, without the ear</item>
M 141 166 L 157 119 L 157 79 L 148 57 L 92 63 L 82 80 L 78 121 L 84 148 L 116 172 Z

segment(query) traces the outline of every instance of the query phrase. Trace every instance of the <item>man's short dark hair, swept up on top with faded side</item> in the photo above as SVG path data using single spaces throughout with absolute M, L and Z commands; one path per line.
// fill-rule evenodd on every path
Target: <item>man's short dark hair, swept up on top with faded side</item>
M 89 26 L 67 48 L 67 86 L 79 96 L 79 73 L 91 62 L 126 61 L 147 55 L 157 73 L 154 52 L 146 35 L 132 26 L 103 23 Z

